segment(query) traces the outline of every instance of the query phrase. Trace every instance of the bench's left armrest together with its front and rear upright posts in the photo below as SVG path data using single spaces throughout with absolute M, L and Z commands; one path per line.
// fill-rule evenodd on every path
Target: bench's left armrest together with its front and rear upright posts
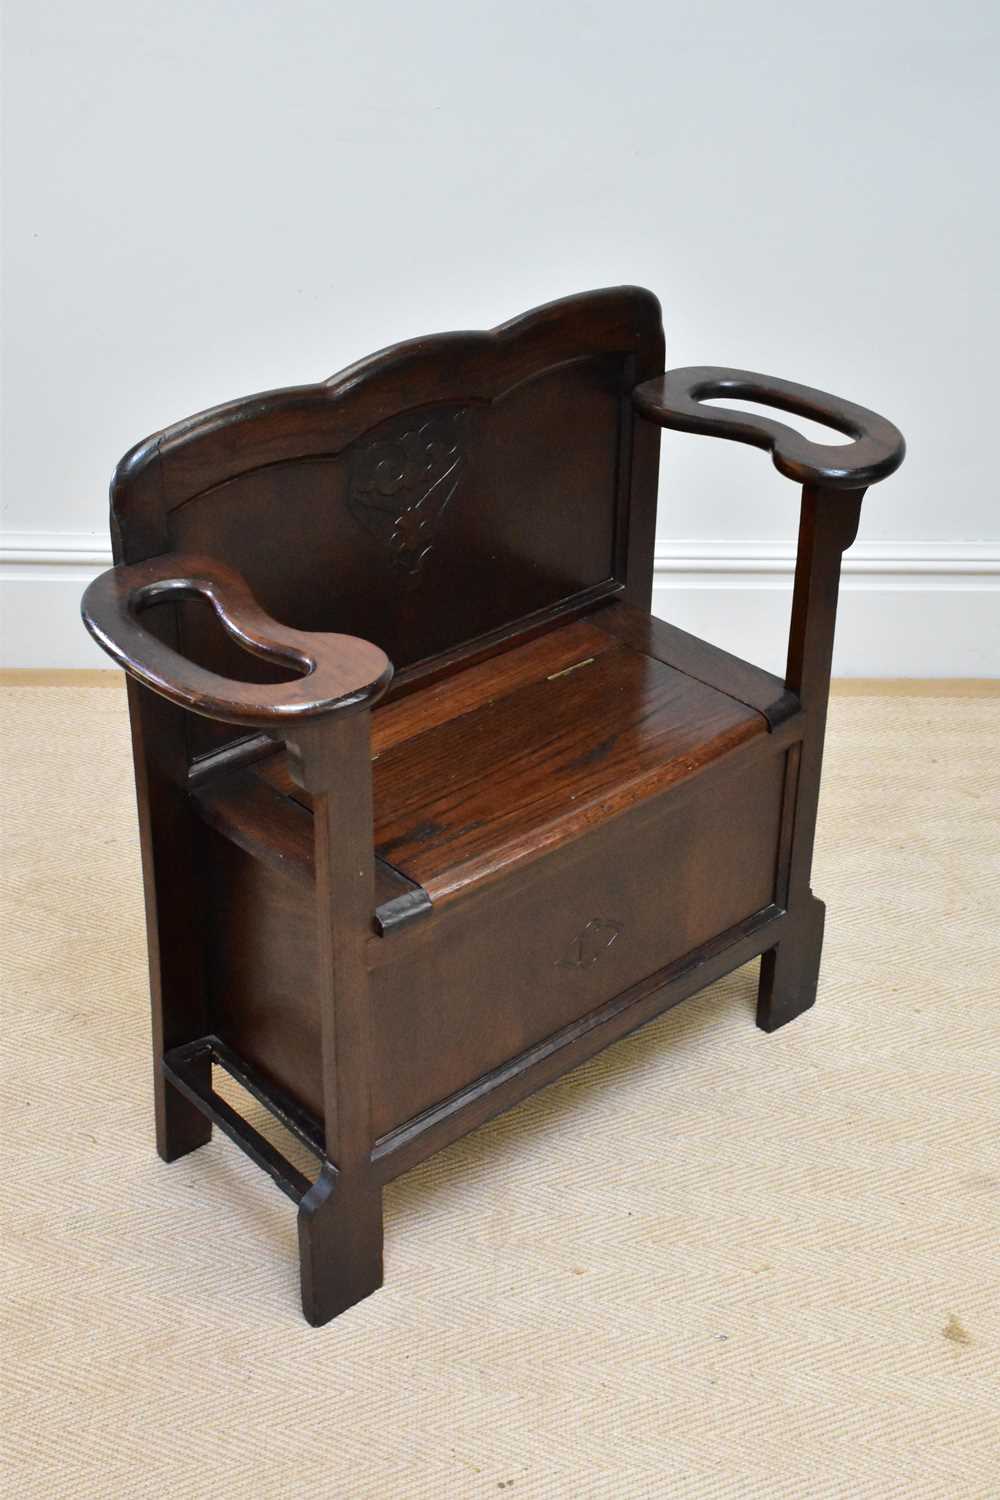
M 183 656 L 174 618 L 160 634 L 142 626 L 150 604 L 190 596 L 211 604 L 243 650 L 301 675 L 279 684 L 234 681 Z M 375 906 L 370 706 L 388 686 L 391 663 L 369 640 L 279 624 L 234 568 L 208 556 L 162 555 L 114 567 L 90 585 L 82 614 L 97 644 L 129 674 L 139 736 L 157 1142 L 166 1160 L 193 1150 L 211 1130 L 160 1066 L 163 1053 L 205 1034 L 198 927 L 205 903 L 195 900 L 190 882 L 169 878 L 171 864 L 174 872 L 204 864 L 195 856 L 204 831 L 186 795 L 184 711 L 285 740 L 294 774 L 313 795 L 325 1148 L 319 1176 L 298 1204 L 298 1244 L 303 1310 L 310 1323 L 325 1323 L 382 1281 L 382 1197 L 370 1166 L 366 946 Z M 208 1084 L 207 1050 L 202 1065 Z

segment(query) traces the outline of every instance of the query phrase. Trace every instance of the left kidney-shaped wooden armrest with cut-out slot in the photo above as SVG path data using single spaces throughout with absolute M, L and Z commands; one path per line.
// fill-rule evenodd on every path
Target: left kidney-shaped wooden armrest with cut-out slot
M 291 682 L 238 682 L 208 672 L 165 645 L 139 621 L 142 609 L 201 596 L 244 651 L 301 674 Z M 109 657 L 171 702 L 231 724 L 277 728 L 331 710 L 373 704 L 393 666 L 384 651 L 357 636 L 306 633 L 280 626 L 261 609 L 246 579 L 214 558 L 165 554 L 112 567 L 82 598 L 87 630 Z

